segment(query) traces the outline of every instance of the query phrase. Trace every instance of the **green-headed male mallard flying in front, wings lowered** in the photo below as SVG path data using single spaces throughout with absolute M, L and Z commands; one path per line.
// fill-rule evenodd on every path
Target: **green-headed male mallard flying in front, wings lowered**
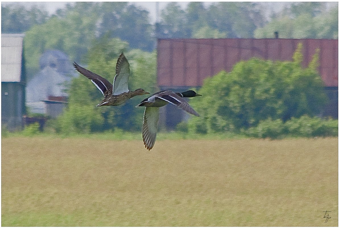
M 151 150 L 156 141 L 159 107 L 166 104 L 174 104 L 182 108 L 190 114 L 200 116 L 190 105 L 183 99 L 183 97 L 197 97 L 202 96 L 193 90 L 188 90 L 183 93 L 174 93 L 170 90 L 164 90 L 153 94 L 151 97 L 144 99 L 136 107 L 145 106 L 144 120 L 143 120 L 143 142 L 145 148 Z

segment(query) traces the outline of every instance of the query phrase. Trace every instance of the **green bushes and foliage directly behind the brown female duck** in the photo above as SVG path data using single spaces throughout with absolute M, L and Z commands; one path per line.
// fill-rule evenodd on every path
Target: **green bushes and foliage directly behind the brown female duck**
M 118 38 L 104 36 L 88 52 L 87 69 L 113 82 L 117 58 L 128 48 Z M 156 91 L 156 53 L 130 50 L 124 52 L 130 63 L 130 90 L 143 88 L 149 93 Z M 143 108 L 134 108 L 146 96 L 137 96 L 117 107 L 96 107 L 103 95 L 86 77 L 80 75 L 72 80 L 69 89 L 68 109 L 52 125 L 57 132 L 88 133 L 116 128 L 139 130 Z

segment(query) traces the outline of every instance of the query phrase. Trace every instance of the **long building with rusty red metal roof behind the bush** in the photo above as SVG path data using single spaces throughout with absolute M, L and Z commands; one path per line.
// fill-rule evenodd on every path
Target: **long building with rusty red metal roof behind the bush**
M 157 84 L 160 89 L 183 92 L 200 87 L 207 77 L 221 70 L 232 70 L 235 63 L 257 57 L 291 61 L 297 44 L 303 44 L 303 63 L 307 67 L 320 49 L 319 73 L 331 103 L 325 113 L 338 117 L 338 40 L 337 39 L 158 39 Z M 173 128 L 186 117 L 172 105 L 161 110 L 160 124 Z M 177 119 L 171 118 L 177 115 Z M 163 122 L 162 122 L 163 121 Z

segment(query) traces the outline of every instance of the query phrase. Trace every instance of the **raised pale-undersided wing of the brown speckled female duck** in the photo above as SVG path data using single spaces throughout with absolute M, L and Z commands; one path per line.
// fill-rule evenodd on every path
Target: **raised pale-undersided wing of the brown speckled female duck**
M 119 95 L 129 92 L 128 81 L 130 76 L 130 64 L 121 53 L 117 60 L 116 76 L 113 82 L 113 95 Z

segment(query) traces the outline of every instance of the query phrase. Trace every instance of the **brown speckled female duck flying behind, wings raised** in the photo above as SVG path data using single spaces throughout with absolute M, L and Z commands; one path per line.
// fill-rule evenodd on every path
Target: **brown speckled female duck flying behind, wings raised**
M 90 79 L 93 84 L 102 92 L 104 99 L 97 104 L 97 107 L 105 105 L 118 106 L 125 103 L 126 100 L 137 96 L 150 94 L 145 92 L 144 89 L 136 89 L 135 91 L 129 91 L 128 81 L 130 76 L 130 64 L 121 53 L 117 60 L 116 76 L 113 85 L 105 78 L 79 66 L 77 63 L 73 63 L 73 67 L 86 78 Z

